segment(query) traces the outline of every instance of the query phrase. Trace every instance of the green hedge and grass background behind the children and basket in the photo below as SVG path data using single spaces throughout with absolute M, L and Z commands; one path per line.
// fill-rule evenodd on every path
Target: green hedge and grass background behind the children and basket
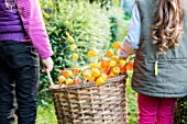
M 78 66 L 89 63 L 86 53 L 92 47 L 97 47 L 102 53 L 110 47 L 112 42 L 123 41 L 129 26 L 129 20 L 125 19 L 129 19 L 130 15 L 124 14 L 118 0 L 113 1 L 112 5 L 107 4 L 100 8 L 100 2 L 90 4 L 88 0 L 41 0 L 47 33 L 54 50 L 55 69 L 61 70 L 75 65 L 70 58 L 72 52 L 67 47 L 69 43 L 65 35 L 66 31 L 74 37 L 78 46 Z M 55 83 L 57 83 L 58 75 L 55 70 L 52 72 Z M 41 74 L 37 124 L 57 124 L 48 87 L 46 74 Z M 136 93 L 130 84 L 127 86 L 127 95 L 129 122 L 138 124 Z M 175 113 L 176 124 L 187 124 L 186 101 L 186 98 L 178 101 L 177 112 L 183 114 Z

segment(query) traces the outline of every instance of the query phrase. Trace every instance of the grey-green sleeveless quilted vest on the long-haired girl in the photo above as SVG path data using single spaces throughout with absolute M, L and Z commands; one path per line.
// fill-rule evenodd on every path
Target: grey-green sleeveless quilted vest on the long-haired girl
M 157 0 L 138 0 L 141 15 L 140 46 L 134 60 L 132 88 L 143 94 L 163 98 L 187 95 L 187 10 L 184 34 L 178 47 L 172 47 L 166 55 L 156 55 L 151 25 L 155 21 Z M 187 5 L 187 0 L 185 0 Z M 157 65 L 157 76 L 155 66 Z

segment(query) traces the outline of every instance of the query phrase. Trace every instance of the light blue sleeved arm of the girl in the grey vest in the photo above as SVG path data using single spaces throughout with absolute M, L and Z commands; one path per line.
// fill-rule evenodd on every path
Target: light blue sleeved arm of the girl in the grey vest
M 135 54 L 135 49 L 139 48 L 141 36 L 141 19 L 136 4 L 133 8 L 130 27 L 127 32 L 128 35 L 125 36 L 119 50 L 120 57 L 128 57 L 129 55 Z

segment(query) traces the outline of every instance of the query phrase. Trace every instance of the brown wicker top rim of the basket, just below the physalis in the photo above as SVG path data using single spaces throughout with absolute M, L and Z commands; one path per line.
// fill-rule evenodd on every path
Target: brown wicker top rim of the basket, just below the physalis
M 109 83 L 109 82 L 113 82 L 113 81 L 120 81 L 122 79 L 125 79 L 128 77 L 128 75 L 119 75 L 118 77 L 114 77 L 114 78 L 110 78 L 110 79 L 107 79 L 107 81 L 105 83 Z M 88 88 L 88 87 L 97 87 L 95 84 L 95 81 L 94 82 L 88 82 L 87 80 L 85 80 L 82 83 L 79 83 L 79 84 L 74 84 L 74 86 L 65 86 L 65 87 L 62 87 L 62 88 L 56 88 L 56 87 L 50 87 L 50 90 L 52 92 L 59 92 L 59 91 L 65 91 L 65 90 L 69 90 L 69 89 L 81 89 L 81 88 Z M 100 86 L 98 86 L 100 87 Z

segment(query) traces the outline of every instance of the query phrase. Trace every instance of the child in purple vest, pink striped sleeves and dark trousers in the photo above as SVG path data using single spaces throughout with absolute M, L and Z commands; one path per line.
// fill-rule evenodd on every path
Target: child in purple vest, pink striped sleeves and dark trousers
M 0 0 L 0 124 L 12 124 L 13 86 L 18 123 L 35 124 L 38 55 L 50 71 L 53 52 L 38 0 Z

